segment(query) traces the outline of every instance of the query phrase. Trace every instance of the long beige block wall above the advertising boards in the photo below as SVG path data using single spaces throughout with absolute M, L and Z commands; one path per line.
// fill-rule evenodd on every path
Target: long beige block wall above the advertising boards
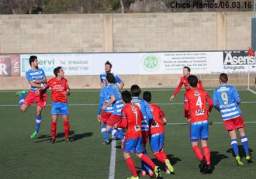
M 253 12 L 0 15 L 0 53 L 247 50 Z

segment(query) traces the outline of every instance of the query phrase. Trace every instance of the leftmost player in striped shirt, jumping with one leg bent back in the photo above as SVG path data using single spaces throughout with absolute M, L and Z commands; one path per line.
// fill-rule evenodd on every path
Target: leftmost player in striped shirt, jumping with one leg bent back
M 29 57 L 29 64 L 31 68 L 26 71 L 26 79 L 31 85 L 29 94 L 25 98 L 26 91 L 22 90 L 17 92 L 16 96 L 19 96 L 19 107 L 21 112 L 26 112 L 29 105 L 36 102 L 36 129 L 30 136 L 33 139 L 39 132 L 42 120 L 42 109 L 45 108 L 45 105 L 47 104 L 47 92 L 41 91 L 40 93 L 36 93 L 36 89 L 41 88 L 41 85 L 47 83 L 47 77 L 43 69 L 38 67 L 38 60 L 36 56 Z

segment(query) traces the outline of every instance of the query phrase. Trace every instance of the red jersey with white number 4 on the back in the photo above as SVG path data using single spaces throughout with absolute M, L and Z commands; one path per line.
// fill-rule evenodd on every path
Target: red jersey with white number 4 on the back
M 208 119 L 208 112 L 212 111 L 213 101 L 203 89 L 191 88 L 185 92 L 185 118 L 190 115 L 190 122 L 199 122 Z M 206 102 L 209 103 L 207 111 Z

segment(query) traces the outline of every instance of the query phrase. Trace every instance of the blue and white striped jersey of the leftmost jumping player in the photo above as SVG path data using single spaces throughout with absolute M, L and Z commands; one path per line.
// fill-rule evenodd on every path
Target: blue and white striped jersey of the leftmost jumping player
M 46 77 L 42 68 L 36 68 L 36 70 L 29 69 L 26 71 L 26 79 L 27 81 L 43 81 L 43 77 Z M 42 84 L 43 85 L 43 84 Z M 36 91 L 37 88 L 31 86 L 30 91 Z

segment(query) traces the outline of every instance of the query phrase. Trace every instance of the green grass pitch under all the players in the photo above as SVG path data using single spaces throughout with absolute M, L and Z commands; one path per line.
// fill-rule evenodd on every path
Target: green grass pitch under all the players
M 213 174 L 199 172 L 199 160 L 189 143 L 189 125 L 184 119 L 183 94 L 180 91 L 173 102 L 169 98 L 174 89 L 143 89 L 152 92 L 152 102 L 160 105 L 168 119 L 165 126 L 164 151 L 168 154 L 175 174 L 167 175 L 164 165 L 159 164 L 147 146 L 147 153 L 161 166 L 163 178 L 255 178 L 255 163 L 247 164 L 240 138 L 238 144 L 244 167 L 238 167 L 230 146 L 230 137 L 221 123 L 220 114 L 213 108 L 209 121 L 209 148 L 214 167 Z M 213 89 L 207 90 L 213 96 Z M 251 153 L 256 149 L 256 95 L 240 89 L 240 108 L 246 123 L 245 132 Z M 109 178 L 111 144 L 102 145 L 103 139 L 96 120 L 99 90 L 72 90 L 68 96 L 71 140 L 63 141 L 64 129 L 61 117 L 57 123 L 57 143 L 50 141 L 50 91 L 47 107 L 43 109 L 40 133 L 30 139 L 35 127 L 36 107 L 30 106 L 19 112 L 16 91 L 0 91 L 0 176 L 1 178 Z M 178 124 L 181 123 L 181 124 Z M 110 137 L 110 136 L 109 136 Z M 254 157 L 256 162 L 256 157 Z M 140 160 L 133 154 L 137 170 Z M 120 141 L 116 141 L 115 178 L 130 177 L 130 170 L 123 159 Z M 149 178 L 140 176 L 140 178 Z

